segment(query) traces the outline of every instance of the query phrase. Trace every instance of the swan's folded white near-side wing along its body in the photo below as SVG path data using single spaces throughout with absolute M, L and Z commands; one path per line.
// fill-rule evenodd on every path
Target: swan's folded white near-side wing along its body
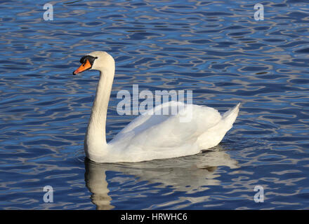
M 221 115 L 206 106 L 185 105 L 181 102 L 167 102 L 155 107 L 155 111 L 180 108 L 176 115 L 155 115 L 143 113 L 132 120 L 124 130 L 110 142 L 121 144 L 120 148 L 143 148 L 143 151 L 166 151 L 171 148 L 193 147 L 197 138 L 217 125 Z M 126 146 L 124 146 L 126 145 Z

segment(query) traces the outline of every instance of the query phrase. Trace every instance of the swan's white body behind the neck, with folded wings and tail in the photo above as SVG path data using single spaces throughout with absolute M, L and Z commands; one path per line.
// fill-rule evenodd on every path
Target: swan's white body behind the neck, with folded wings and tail
M 235 121 L 239 104 L 223 116 L 216 109 L 181 102 L 167 102 L 154 111 L 173 111 L 175 107 L 180 108 L 176 115 L 146 112 L 132 120 L 110 141 L 110 154 L 138 162 L 199 153 L 223 139 Z

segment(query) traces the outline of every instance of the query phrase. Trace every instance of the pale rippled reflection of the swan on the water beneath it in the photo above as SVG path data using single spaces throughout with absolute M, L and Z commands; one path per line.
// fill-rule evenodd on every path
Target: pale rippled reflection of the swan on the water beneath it
M 172 187 L 178 191 L 193 193 L 206 190 L 207 186 L 216 186 L 221 182 L 216 174 L 219 166 L 238 168 L 237 161 L 232 160 L 224 151 L 206 151 L 197 155 L 165 160 L 152 160 L 137 163 L 103 163 L 98 164 L 85 159 L 85 181 L 88 190 L 92 193 L 91 200 L 97 209 L 113 209 L 110 204 L 112 197 L 108 195 L 107 171 L 120 172 L 130 175 L 126 178 L 138 179 L 149 183 L 161 183 L 162 187 Z M 131 177 L 134 176 L 134 177 Z M 121 177 L 110 179 L 112 182 L 121 181 Z

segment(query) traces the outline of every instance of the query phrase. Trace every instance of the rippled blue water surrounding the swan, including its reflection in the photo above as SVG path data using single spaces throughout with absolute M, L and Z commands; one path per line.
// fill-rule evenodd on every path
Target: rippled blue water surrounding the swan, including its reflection
M 0 2 L 1 209 L 308 209 L 309 3 L 263 1 Z M 192 90 L 223 112 L 241 102 L 216 152 L 137 164 L 84 158 L 98 72 L 72 76 L 106 50 L 119 90 Z M 44 186 L 53 203 L 44 203 Z M 264 202 L 254 202 L 263 186 Z

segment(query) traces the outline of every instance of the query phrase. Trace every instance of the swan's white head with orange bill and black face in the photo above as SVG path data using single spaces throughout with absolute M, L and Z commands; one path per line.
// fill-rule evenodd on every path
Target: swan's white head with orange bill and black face
M 73 72 L 73 75 L 86 70 L 114 69 L 114 59 L 105 51 L 93 51 L 81 57 L 81 66 Z

